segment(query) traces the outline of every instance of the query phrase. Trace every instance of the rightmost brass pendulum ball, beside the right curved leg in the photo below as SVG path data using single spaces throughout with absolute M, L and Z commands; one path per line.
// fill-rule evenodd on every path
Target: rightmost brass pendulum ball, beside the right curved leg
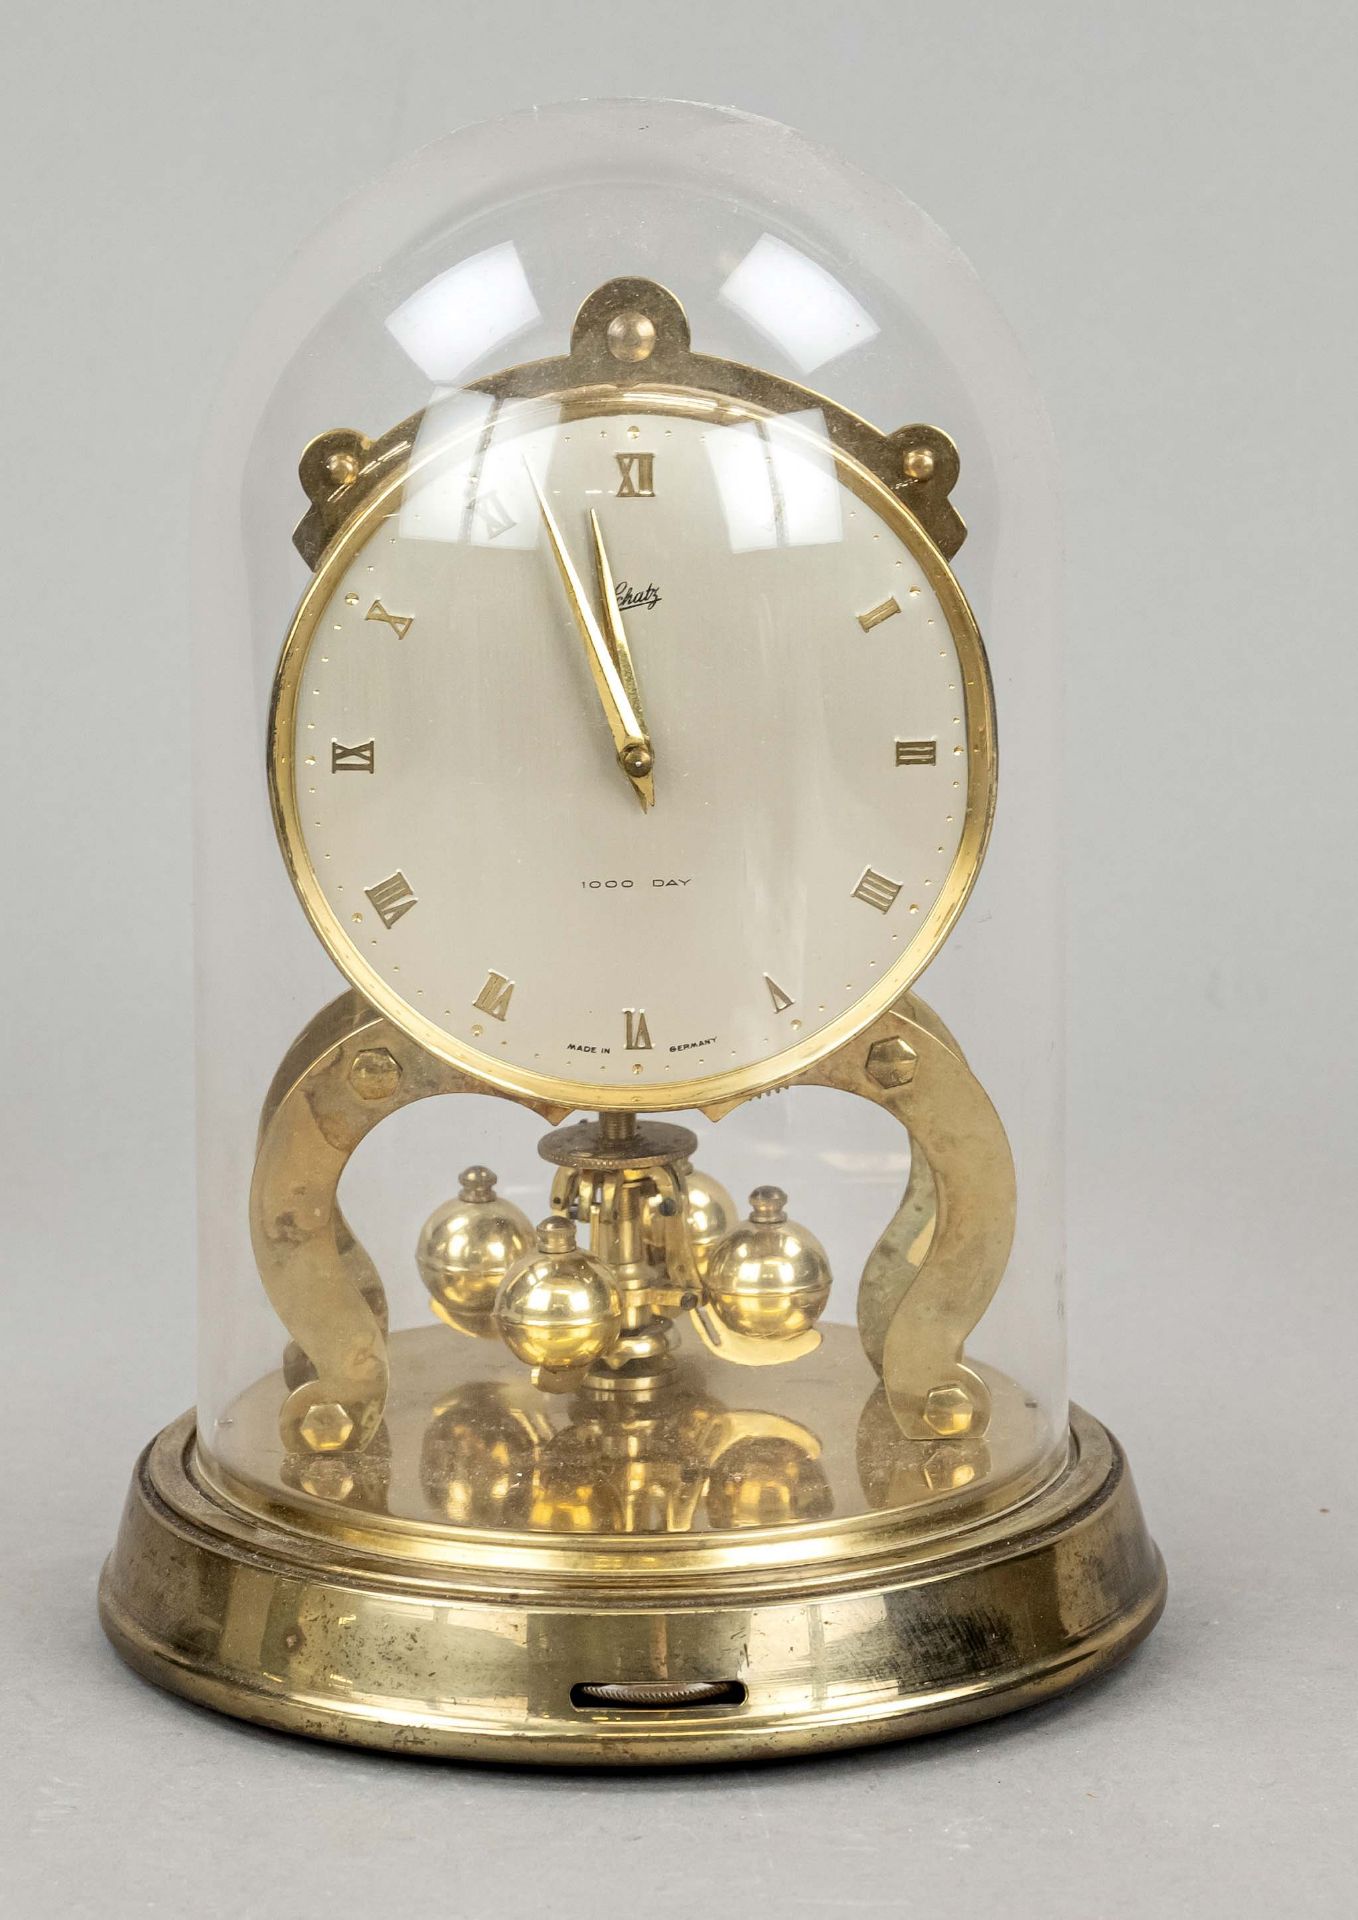
M 812 1233 L 788 1219 L 782 1187 L 757 1187 L 749 1219 L 707 1260 L 707 1300 L 732 1332 L 786 1340 L 814 1327 L 830 1300 L 830 1260 Z

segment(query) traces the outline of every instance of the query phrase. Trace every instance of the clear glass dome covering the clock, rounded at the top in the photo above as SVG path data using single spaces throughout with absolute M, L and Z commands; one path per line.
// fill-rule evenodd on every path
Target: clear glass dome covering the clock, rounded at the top
M 578 647 L 563 612 L 570 580 L 599 603 L 588 524 L 563 495 L 563 472 L 615 549 L 609 584 L 632 666 L 647 708 L 661 710 L 653 820 L 634 776 L 643 804 L 622 818 L 618 780 L 613 843 L 584 816 L 586 774 L 576 776 L 565 716 L 574 682 L 594 699 L 590 666 L 607 682 L 590 737 L 605 756 L 622 739 L 603 726 L 618 722 L 609 705 L 618 674 L 609 682 L 588 649 L 584 662 L 567 653 Z M 642 520 L 615 501 L 665 490 L 684 493 L 682 513 L 634 534 Z M 899 524 L 891 503 L 905 509 Z M 878 574 L 862 559 L 874 541 L 893 555 Z M 449 555 L 482 566 L 463 601 L 457 584 L 440 586 Z M 791 1538 L 814 1515 L 907 1507 L 935 1526 L 939 1511 L 1003 1509 L 1056 1473 L 1066 1450 L 1056 564 L 1043 409 L 968 263 L 918 207 L 782 127 L 624 100 L 517 115 L 415 156 L 311 242 L 225 386 L 198 524 L 198 1438 L 213 1484 L 269 1511 L 344 1501 L 384 1523 L 453 1530 L 755 1524 Z M 870 580 L 899 586 L 878 599 Z M 440 593 L 453 599 L 438 645 L 467 649 L 451 699 L 409 651 L 426 605 L 426 630 L 444 618 Z M 551 593 L 565 597 L 547 618 Z M 678 609 L 668 634 L 665 599 Z M 983 655 L 980 643 L 968 651 L 966 603 Z M 738 609 L 749 645 L 695 664 L 691 622 L 718 607 Z M 826 636 L 839 626 L 812 649 L 801 630 L 789 637 L 789 616 Z M 282 657 L 294 670 L 280 674 L 290 630 Z M 511 643 L 522 651 L 507 659 Z M 390 668 L 407 678 L 384 682 L 378 707 L 361 714 L 353 687 L 382 647 L 390 659 L 407 649 Z M 684 674 L 701 699 L 684 691 Z M 874 708 L 893 760 L 859 780 L 855 728 L 866 756 Z M 424 739 L 421 728 L 446 747 L 449 797 L 421 785 L 401 755 L 400 766 L 388 760 L 382 812 L 373 755 L 394 753 L 386 739 L 400 730 Z M 920 737 L 905 737 L 912 728 Z M 732 756 L 755 799 L 720 785 Z M 678 797 L 699 780 L 711 795 L 680 818 Z M 887 791 L 922 852 L 918 877 L 884 906 L 899 883 L 874 866 L 868 824 Z M 634 835 L 653 826 L 640 854 Z M 861 847 L 845 887 L 861 910 L 853 937 L 878 943 L 855 950 L 857 979 L 807 879 L 818 860 L 849 858 L 851 841 Z M 348 895 L 338 864 L 327 868 L 340 845 L 361 847 L 346 864 Z M 699 952 L 663 883 L 684 883 L 703 862 L 726 877 L 709 889 Z M 636 870 L 636 893 L 657 897 L 624 902 L 622 870 Z M 570 900 L 547 877 L 563 872 Z M 413 910 L 440 887 L 442 918 Z M 916 922 L 901 933 L 907 906 Z M 657 954 L 649 998 L 628 989 L 624 914 Z M 361 927 L 352 945 L 350 924 Z M 403 962 L 378 945 L 386 933 L 407 937 Z M 768 947 L 776 960 L 759 958 Z M 482 991 L 465 991 L 465 1006 L 444 1018 L 451 989 L 440 968 L 453 952 L 476 966 Z M 499 1031 L 511 1027 L 505 993 L 528 1021 L 532 952 L 551 964 L 540 968 L 540 1029 L 521 1025 L 515 1054 Z M 572 1066 L 563 1048 L 576 1043 L 563 1037 L 551 983 L 569 998 L 582 968 L 628 1025 L 607 1060 Z M 736 970 L 763 973 L 766 1000 L 751 1002 L 743 1027 L 728 1021 L 734 1044 L 718 1060 L 707 1029 L 726 1016 L 711 1006 L 734 993 Z M 893 1421 L 878 1373 L 901 1290 L 928 1265 L 928 1236 L 943 1233 L 932 1150 L 891 1106 L 903 1079 L 884 1069 L 874 1092 L 861 1062 L 857 1081 L 834 1069 L 857 1044 L 849 1037 L 876 1035 L 872 1021 L 905 989 L 918 1025 L 958 1079 L 983 1089 L 1001 1129 L 968 1137 L 968 1150 L 989 1154 L 989 1185 L 957 1175 L 955 1212 L 972 1217 L 949 1229 L 976 1242 L 962 1261 L 995 1267 L 983 1283 L 972 1275 L 966 1302 L 949 1308 L 987 1405 L 962 1396 L 962 1411 L 949 1411 L 945 1392 L 914 1428 Z M 622 1037 L 649 1043 L 657 1000 L 686 993 L 691 1004 L 668 1031 L 693 1041 L 628 1058 Z M 780 1014 L 791 1014 L 788 1027 L 764 1039 Z M 394 1031 L 411 1039 L 407 1052 L 382 1037 Z M 697 1058 L 668 1058 L 682 1044 Z M 342 1091 L 336 1075 L 348 1075 Z M 484 1098 L 421 1098 L 463 1092 L 482 1075 Z M 793 1081 L 789 1096 L 743 1098 Z M 569 1098 L 553 1098 L 563 1085 Z M 688 1089 L 699 1091 L 690 1104 Z M 538 1140 L 574 1108 L 661 1112 L 690 1127 L 701 1181 L 741 1196 L 782 1188 L 828 1258 L 816 1356 L 716 1367 L 720 1396 L 709 1371 L 665 1415 L 651 1442 L 661 1453 L 701 1455 L 707 1442 L 693 1436 L 713 1421 L 753 1421 L 740 1446 L 753 1448 L 759 1471 L 728 1459 L 684 1519 L 684 1503 L 655 1488 L 624 1498 L 605 1467 L 590 1480 L 590 1448 L 599 1459 L 609 1452 L 601 1407 L 540 1392 L 496 1338 L 486 1315 L 503 1261 L 488 1261 L 480 1290 L 461 1275 L 467 1311 L 457 1284 L 434 1273 L 440 1260 L 451 1271 L 469 1231 L 465 1167 L 497 1175 L 505 1260 L 532 1250 L 528 1223 L 549 1212 Z M 1006 1175 L 995 1175 L 1005 1137 L 1010 1252 L 999 1244 Z M 473 1204 L 492 1206 L 476 1179 Z M 584 1238 L 588 1204 L 582 1212 L 580 1190 L 572 1202 Z M 663 1196 L 653 1206 L 663 1210 Z M 989 1206 L 999 1225 L 978 1254 Z M 743 1212 L 716 1204 L 726 1229 Z M 298 1246 L 309 1248 L 305 1273 Z M 855 1319 L 862 1338 L 847 1331 Z M 930 1325 L 922 1309 L 903 1338 L 928 1346 Z M 348 1367 L 365 1411 L 332 1380 L 315 1386 L 334 1367 Z M 496 1444 L 467 1415 L 490 1404 Z M 761 1417 L 774 1438 L 761 1438 Z

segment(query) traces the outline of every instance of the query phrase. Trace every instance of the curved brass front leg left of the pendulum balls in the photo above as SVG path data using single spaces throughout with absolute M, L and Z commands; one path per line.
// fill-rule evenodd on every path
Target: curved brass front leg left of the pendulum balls
M 259 1119 L 250 1238 L 259 1279 L 300 1354 L 279 1432 L 288 1452 L 365 1448 L 388 1388 L 386 1298 L 338 1204 L 359 1140 L 398 1108 L 440 1092 L 494 1094 L 444 1066 L 357 993 L 298 1035 Z M 546 1119 L 563 1110 L 526 1102 Z

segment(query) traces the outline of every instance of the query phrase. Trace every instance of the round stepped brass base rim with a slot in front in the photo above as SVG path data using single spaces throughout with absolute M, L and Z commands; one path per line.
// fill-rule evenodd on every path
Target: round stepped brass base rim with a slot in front
M 549 1586 L 400 1530 L 315 1530 L 213 1490 L 184 1415 L 136 1465 L 100 1586 L 131 1667 L 321 1740 L 559 1764 L 751 1761 L 930 1734 L 1047 1699 L 1154 1626 L 1164 1567 L 1112 1434 L 1005 1513 L 845 1555 L 697 1574 L 630 1555 Z M 630 1546 L 634 1542 L 628 1542 Z

